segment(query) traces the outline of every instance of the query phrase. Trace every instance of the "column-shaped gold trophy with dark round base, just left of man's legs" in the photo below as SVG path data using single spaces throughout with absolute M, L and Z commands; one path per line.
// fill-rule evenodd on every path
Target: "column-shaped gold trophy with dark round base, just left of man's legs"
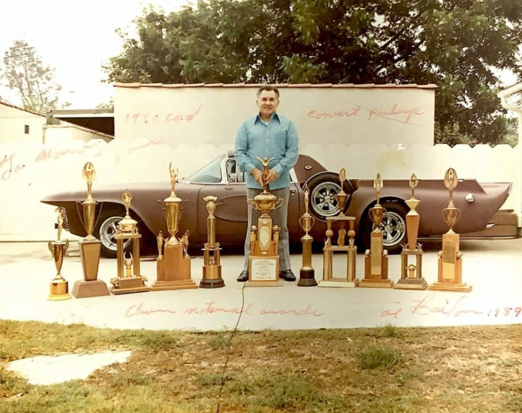
M 221 278 L 221 261 L 219 242 L 216 242 L 216 217 L 214 211 L 216 210 L 215 196 L 208 195 L 203 198 L 207 203 L 207 237 L 208 242 L 203 248 L 203 278 L 199 282 L 200 288 L 220 288 L 224 287 L 225 283 Z

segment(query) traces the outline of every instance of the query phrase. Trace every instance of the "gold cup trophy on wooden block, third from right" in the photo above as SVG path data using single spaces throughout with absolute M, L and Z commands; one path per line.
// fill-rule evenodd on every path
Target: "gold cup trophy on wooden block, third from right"
M 388 251 L 383 247 L 383 231 L 379 229 L 384 215 L 384 208 L 379 204 L 379 196 L 383 188 L 381 174 L 377 173 L 373 181 L 377 203 L 370 209 L 370 217 L 375 229 L 370 234 L 370 249 L 364 253 L 364 278 L 361 287 L 393 288 L 393 281 L 388 278 Z

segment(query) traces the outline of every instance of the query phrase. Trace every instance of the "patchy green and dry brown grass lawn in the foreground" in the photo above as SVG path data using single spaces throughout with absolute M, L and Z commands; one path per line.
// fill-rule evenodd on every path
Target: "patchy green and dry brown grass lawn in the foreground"
M 2 321 L 7 412 L 522 412 L 522 325 L 186 333 Z M 223 364 L 230 355 L 222 382 Z M 87 380 L 29 385 L 38 355 L 132 350 Z M 21 396 L 20 396 L 21 394 Z

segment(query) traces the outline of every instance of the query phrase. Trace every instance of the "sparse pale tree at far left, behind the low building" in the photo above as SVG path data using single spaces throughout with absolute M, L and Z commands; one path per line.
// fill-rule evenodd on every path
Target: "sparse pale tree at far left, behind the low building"
M 56 108 L 62 87 L 54 81 L 54 69 L 42 62 L 34 48 L 15 40 L 4 53 L 3 62 L 0 80 L 17 91 L 23 108 L 39 113 Z

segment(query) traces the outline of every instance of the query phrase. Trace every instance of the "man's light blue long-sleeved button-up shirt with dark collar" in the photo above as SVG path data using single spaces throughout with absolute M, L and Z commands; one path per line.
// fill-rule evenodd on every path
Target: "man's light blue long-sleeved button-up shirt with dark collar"
M 243 122 L 235 138 L 235 161 L 245 172 L 248 188 L 262 188 L 250 173 L 254 167 L 263 171 L 263 164 L 256 156 L 275 158 L 268 164 L 277 173 L 277 181 L 268 185 L 271 190 L 290 186 L 290 169 L 299 157 L 299 138 L 293 122 L 276 112 L 268 123 L 259 114 Z

